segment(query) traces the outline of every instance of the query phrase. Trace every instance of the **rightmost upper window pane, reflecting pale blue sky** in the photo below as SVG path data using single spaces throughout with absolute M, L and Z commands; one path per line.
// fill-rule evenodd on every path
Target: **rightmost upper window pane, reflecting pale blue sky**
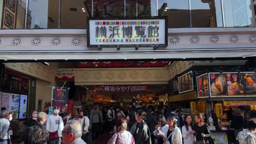
M 224 27 L 255 27 L 252 0 L 223 1 Z

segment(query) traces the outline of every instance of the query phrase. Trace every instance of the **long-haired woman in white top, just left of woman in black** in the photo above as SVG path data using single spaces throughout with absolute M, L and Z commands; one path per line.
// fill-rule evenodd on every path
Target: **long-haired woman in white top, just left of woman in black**
M 191 127 L 191 116 L 186 115 L 184 117 L 184 124 L 182 127 L 182 137 L 184 144 L 194 144 L 195 142 L 195 136 L 192 133 L 192 127 Z

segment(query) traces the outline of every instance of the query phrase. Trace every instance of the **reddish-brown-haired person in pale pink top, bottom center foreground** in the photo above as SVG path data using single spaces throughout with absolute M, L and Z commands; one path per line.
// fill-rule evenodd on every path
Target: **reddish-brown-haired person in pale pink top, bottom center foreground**
M 127 119 L 119 118 L 115 125 L 117 127 L 117 133 L 115 133 L 111 139 L 109 139 L 108 144 L 122 143 L 122 144 L 134 144 L 135 140 L 127 128 Z

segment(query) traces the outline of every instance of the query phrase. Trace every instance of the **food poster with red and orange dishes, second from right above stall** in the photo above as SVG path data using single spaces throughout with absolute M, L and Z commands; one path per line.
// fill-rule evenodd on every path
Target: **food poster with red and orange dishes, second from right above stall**
M 245 96 L 243 74 L 225 73 L 228 96 Z

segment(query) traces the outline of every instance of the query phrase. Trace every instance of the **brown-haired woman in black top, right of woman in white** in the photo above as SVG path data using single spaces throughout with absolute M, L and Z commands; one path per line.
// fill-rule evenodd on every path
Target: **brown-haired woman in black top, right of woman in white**
M 212 143 L 210 127 L 204 123 L 202 114 L 196 113 L 194 117 L 196 124 L 192 127 L 192 133 L 196 136 L 195 143 Z

